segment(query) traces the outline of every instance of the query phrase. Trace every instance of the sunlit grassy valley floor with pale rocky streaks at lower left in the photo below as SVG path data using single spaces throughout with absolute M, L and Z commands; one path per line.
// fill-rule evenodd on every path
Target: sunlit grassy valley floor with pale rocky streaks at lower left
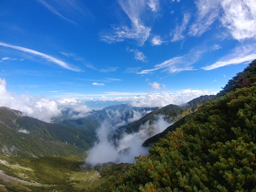
M 0 155 L 0 192 L 90 191 L 121 172 L 128 164 L 82 168 L 85 155 L 42 158 Z M 100 174 L 102 172 L 102 174 Z M 5 180 L 4 178 L 7 178 Z M 5 181 L 5 182 L 3 182 Z

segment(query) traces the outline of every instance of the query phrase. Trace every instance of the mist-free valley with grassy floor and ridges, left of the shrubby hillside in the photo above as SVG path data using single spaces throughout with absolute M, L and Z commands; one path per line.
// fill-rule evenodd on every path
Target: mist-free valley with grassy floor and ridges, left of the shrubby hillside
M 121 126 L 111 124 L 116 129 L 108 135 L 110 142 L 117 141 L 124 133 L 139 132 L 141 125 L 152 124 L 159 116 L 165 116 L 170 123 L 180 119 L 209 99 L 204 96 L 190 102 L 195 105 L 170 105 L 161 109 L 121 104 L 93 111 L 83 119 L 69 117 L 67 109 L 53 119 L 54 124 L 0 107 L 0 191 L 91 191 L 130 165 L 85 164 L 102 122 L 117 115 Z

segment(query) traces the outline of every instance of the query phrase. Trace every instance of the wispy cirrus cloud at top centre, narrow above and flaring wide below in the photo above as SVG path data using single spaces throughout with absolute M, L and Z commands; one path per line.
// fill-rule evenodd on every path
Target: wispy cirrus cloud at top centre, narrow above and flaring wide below
M 100 33 L 100 40 L 108 44 L 124 41 L 125 39 L 136 40 L 140 46 L 148 39 L 151 28 L 141 22 L 141 12 L 145 8 L 145 0 L 119 0 L 123 11 L 131 21 L 131 27 L 113 26 L 111 30 Z

